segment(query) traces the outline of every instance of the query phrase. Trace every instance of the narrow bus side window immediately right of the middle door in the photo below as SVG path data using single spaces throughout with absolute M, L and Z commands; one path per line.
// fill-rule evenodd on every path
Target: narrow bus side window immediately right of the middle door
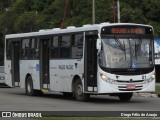
M 51 42 L 51 58 L 59 58 L 58 36 L 54 36 Z

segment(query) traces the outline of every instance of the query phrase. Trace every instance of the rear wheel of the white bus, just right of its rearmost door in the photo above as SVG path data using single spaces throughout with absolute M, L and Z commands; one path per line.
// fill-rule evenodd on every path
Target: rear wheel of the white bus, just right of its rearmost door
M 40 90 L 33 89 L 33 80 L 32 77 L 27 77 L 26 80 L 26 94 L 29 96 L 42 95 L 43 93 Z

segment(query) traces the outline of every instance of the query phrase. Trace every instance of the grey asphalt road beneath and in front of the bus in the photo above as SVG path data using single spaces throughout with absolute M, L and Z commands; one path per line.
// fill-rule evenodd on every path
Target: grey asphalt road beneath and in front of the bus
M 0 111 L 160 111 L 160 98 L 134 96 L 123 103 L 118 97 L 103 95 L 78 102 L 57 93 L 27 96 L 21 88 L 0 88 Z

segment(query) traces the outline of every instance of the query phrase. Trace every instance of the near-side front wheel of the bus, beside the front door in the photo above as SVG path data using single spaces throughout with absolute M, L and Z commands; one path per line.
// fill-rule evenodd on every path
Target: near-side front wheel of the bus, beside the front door
M 78 101 L 88 101 L 90 97 L 89 94 L 83 93 L 83 86 L 80 80 L 75 82 L 74 94 Z

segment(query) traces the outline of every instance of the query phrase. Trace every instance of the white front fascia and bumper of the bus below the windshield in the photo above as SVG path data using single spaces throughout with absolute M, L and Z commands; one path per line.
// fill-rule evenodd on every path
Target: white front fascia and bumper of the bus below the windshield
M 155 91 L 155 78 L 152 78 L 152 75 L 154 75 L 154 71 L 150 72 L 149 74 L 143 74 L 146 76 L 146 79 L 144 79 L 143 82 L 135 82 L 142 80 L 143 75 L 116 75 L 116 74 L 109 74 L 107 72 L 104 72 L 100 67 L 98 67 L 98 73 L 97 73 L 97 79 L 98 79 L 98 93 L 121 93 L 121 92 L 154 92 Z M 105 80 L 102 80 L 100 74 L 103 73 L 106 75 L 110 80 L 117 80 L 116 76 L 118 77 L 118 80 L 123 81 L 121 82 L 106 82 Z M 134 82 L 128 82 L 129 80 L 133 80 Z M 152 80 L 151 80 L 152 79 Z M 126 82 L 125 82 L 126 81 Z M 150 82 L 147 82 L 150 81 Z M 137 89 L 139 90 L 127 90 L 127 85 L 135 85 Z M 139 87 L 138 87 L 139 86 Z M 123 89 L 123 90 L 120 90 Z

